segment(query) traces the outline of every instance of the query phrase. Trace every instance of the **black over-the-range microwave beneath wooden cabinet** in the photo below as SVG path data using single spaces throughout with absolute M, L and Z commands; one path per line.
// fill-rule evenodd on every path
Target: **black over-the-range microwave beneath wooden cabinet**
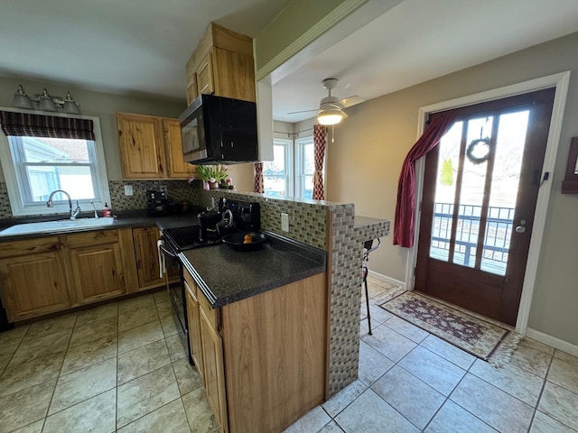
M 193 164 L 257 161 L 255 102 L 201 94 L 179 121 L 185 161 Z

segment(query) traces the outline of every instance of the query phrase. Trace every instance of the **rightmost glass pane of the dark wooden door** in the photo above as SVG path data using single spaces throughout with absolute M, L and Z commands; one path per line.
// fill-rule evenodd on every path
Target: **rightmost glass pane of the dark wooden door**
M 529 111 L 500 115 L 482 271 L 506 275 Z

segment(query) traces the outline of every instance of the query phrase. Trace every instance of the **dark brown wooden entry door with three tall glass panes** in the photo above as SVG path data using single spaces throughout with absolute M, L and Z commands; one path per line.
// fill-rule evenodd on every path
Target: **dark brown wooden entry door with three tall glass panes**
M 466 106 L 427 154 L 415 290 L 514 326 L 555 89 Z

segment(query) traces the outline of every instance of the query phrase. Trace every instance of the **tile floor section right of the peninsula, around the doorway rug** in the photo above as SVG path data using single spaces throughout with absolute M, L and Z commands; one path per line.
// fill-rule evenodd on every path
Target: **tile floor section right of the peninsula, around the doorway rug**
M 380 309 L 397 288 L 369 277 L 359 378 L 285 433 L 578 431 L 578 358 L 524 339 L 499 369 Z

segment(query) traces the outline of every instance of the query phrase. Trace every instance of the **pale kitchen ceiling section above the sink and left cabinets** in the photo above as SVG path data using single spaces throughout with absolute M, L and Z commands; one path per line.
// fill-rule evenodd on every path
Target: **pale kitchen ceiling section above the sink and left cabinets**
M 185 65 L 211 21 L 256 37 L 287 2 L 3 0 L 0 76 L 184 99 Z

